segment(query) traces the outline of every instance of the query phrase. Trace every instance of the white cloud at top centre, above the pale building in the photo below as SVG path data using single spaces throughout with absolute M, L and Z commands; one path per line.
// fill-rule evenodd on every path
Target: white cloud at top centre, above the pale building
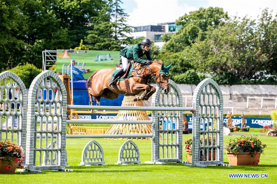
M 130 26 L 157 25 L 157 23 L 173 22 L 190 11 L 194 6 L 180 5 L 175 0 L 135 0 L 137 8 L 129 13 Z

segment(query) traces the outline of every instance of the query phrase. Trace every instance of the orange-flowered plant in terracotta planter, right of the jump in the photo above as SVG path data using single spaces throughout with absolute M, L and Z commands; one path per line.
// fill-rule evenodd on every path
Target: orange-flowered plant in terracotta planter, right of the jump
M 267 145 L 263 144 L 257 136 L 244 136 L 230 139 L 225 149 L 229 164 L 233 166 L 258 165 L 260 155 Z

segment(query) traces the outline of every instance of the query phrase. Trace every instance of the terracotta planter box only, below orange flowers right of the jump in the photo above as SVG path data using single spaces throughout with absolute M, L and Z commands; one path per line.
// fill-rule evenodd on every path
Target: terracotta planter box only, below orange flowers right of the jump
M 261 152 L 257 153 L 257 156 L 251 157 L 251 154 L 249 152 L 242 152 L 242 153 L 229 153 L 226 152 L 228 156 L 229 164 L 232 166 L 253 166 L 258 165 L 261 156 Z M 255 164 L 254 164 L 255 163 Z

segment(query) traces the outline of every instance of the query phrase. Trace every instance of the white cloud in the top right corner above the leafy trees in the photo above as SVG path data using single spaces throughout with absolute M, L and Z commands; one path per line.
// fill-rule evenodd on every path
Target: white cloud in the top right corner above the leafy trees
M 248 18 L 257 19 L 257 16 L 261 14 L 262 10 L 269 8 L 273 10 L 272 15 L 275 16 L 277 12 L 277 0 L 261 1 L 261 0 L 233 0 L 233 1 L 219 1 L 211 0 L 208 1 L 209 6 L 217 6 L 223 8 L 228 12 L 228 15 L 244 17 L 247 15 Z

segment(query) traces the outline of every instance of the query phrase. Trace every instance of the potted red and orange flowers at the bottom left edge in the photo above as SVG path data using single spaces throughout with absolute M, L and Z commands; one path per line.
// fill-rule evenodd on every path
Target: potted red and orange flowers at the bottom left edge
M 17 164 L 22 169 L 23 156 L 21 146 L 11 143 L 8 139 L 0 141 L 0 173 L 14 173 Z

